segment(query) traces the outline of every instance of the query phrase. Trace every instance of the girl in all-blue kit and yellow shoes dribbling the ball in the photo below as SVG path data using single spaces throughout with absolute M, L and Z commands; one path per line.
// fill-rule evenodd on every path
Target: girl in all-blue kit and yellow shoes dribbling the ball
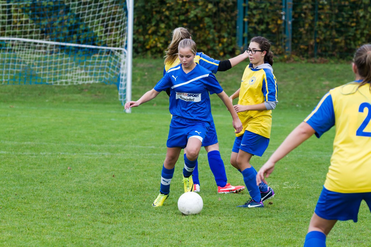
M 209 93 L 216 93 L 226 105 L 232 115 L 232 124 L 236 128 L 236 133 L 242 130 L 242 123 L 215 76 L 194 62 L 196 51 L 196 43 L 193 40 L 180 41 L 178 56 L 181 64 L 168 70 L 156 86 L 138 101 L 125 104 L 125 109 L 136 107 L 154 99 L 161 91 L 168 88 L 171 90 L 169 110 L 173 117 L 166 143 L 166 158 L 162 166 L 160 194 L 152 204 L 154 207 L 162 206 L 168 197 L 174 166 L 182 148 L 187 148 L 183 169 L 184 192 L 193 191 L 191 175 L 202 142 L 213 122 Z

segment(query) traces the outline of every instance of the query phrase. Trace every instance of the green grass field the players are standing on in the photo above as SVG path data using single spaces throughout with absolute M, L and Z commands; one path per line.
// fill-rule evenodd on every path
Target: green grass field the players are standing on
M 135 59 L 133 99 L 162 76 L 162 60 Z M 227 94 L 238 89 L 246 64 L 217 73 Z M 279 104 L 270 145 L 253 157 L 259 169 L 332 87 L 353 79 L 349 64 L 276 63 Z M 232 121 L 212 96 L 213 116 L 228 180 Z M 280 161 L 269 178 L 276 196 L 264 208 L 236 208 L 249 194 L 217 194 L 201 150 L 204 208 L 184 216 L 180 158 L 171 194 L 153 208 L 165 158 L 168 97 L 124 113 L 115 86 L 0 86 L 0 246 L 301 246 L 324 183 L 334 129 L 310 138 Z M 369 246 L 370 211 L 358 223 L 338 222 L 329 246 Z

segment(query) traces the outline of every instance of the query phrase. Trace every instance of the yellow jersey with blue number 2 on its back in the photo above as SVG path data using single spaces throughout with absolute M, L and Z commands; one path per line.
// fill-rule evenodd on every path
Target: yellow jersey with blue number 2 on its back
M 304 120 L 320 137 L 335 125 L 325 188 L 339 193 L 371 192 L 371 92 L 359 81 L 331 89 Z

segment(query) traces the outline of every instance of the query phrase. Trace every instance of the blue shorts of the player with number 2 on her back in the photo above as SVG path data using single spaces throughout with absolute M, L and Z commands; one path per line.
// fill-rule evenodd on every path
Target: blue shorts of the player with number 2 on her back
M 357 222 L 361 201 L 371 211 L 371 192 L 339 193 L 323 187 L 314 212 L 325 220 L 353 220 Z

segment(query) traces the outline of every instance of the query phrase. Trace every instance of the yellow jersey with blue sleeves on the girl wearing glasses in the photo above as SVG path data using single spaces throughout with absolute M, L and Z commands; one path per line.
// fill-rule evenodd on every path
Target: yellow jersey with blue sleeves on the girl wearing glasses
M 242 76 L 238 104 L 255 105 L 265 101 L 277 101 L 277 83 L 272 66 L 265 63 L 253 69 L 252 64 L 249 64 Z M 242 136 L 245 130 L 248 130 L 269 138 L 272 127 L 271 114 L 272 110 L 237 113 L 243 129 L 236 136 Z

